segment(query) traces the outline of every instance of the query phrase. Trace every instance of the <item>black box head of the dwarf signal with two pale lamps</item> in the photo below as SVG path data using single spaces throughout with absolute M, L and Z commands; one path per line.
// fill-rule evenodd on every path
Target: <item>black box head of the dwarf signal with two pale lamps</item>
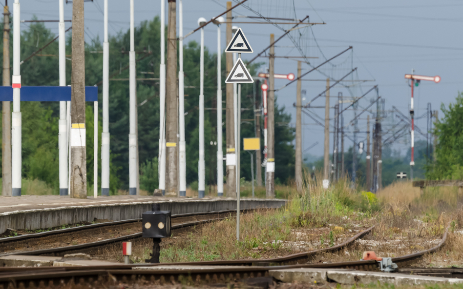
M 170 211 L 148 211 L 142 214 L 144 238 L 170 237 Z

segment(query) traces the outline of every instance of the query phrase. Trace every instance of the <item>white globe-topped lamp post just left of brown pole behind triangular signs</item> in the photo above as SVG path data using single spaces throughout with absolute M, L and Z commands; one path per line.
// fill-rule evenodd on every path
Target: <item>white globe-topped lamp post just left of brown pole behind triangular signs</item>
M 216 19 L 217 23 L 217 196 L 224 195 L 224 152 L 222 145 L 222 49 L 220 42 L 220 23 L 223 17 Z

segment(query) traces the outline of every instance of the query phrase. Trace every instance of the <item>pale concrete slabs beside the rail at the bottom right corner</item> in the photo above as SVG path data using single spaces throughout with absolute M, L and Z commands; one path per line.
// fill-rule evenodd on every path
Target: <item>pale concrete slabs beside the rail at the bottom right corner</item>
M 397 273 L 333 270 L 333 269 L 285 269 L 271 270 L 269 275 L 286 283 L 320 283 L 336 282 L 339 284 L 394 284 L 399 285 L 424 285 L 424 284 L 454 284 L 463 283 L 463 279 L 428 277 L 418 275 L 406 275 Z

